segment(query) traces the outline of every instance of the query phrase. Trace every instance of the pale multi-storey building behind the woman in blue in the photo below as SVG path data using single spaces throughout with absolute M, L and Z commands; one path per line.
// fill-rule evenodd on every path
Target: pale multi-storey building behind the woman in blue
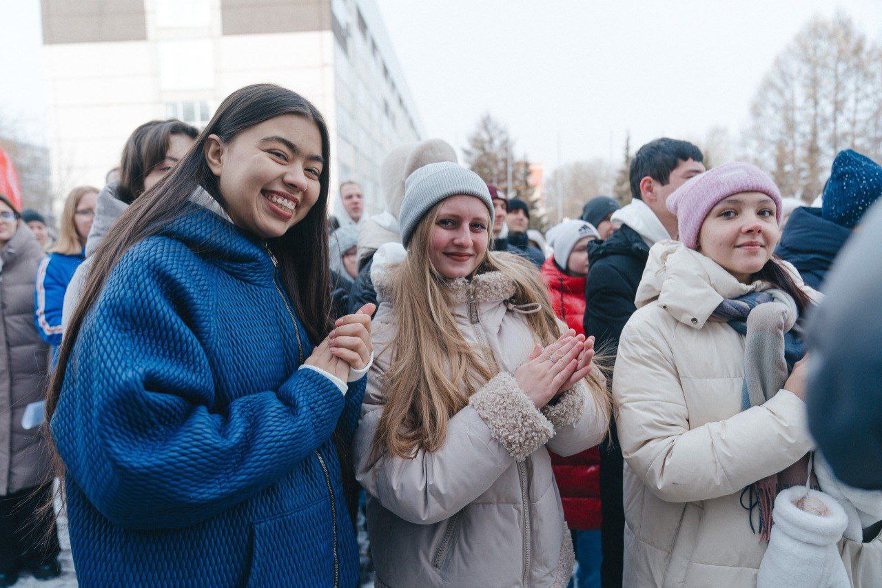
M 332 192 L 363 185 L 422 137 L 374 0 L 41 0 L 55 192 L 103 185 L 131 131 L 204 127 L 230 92 L 272 82 L 313 102 L 332 139 Z

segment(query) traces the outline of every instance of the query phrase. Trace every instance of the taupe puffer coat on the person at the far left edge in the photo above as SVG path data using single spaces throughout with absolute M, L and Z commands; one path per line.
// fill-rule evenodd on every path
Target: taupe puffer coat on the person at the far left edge
M 0 253 L 0 496 L 38 486 L 49 474 L 42 427 L 22 426 L 43 399 L 49 347 L 34 325 L 34 282 L 43 248 L 24 222 Z

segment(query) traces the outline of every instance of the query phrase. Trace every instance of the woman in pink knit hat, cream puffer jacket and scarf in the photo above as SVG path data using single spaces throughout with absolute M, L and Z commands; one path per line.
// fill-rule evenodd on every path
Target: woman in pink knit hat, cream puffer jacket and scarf
M 818 293 L 775 259 L 781 193 L 748 163 L 668 200 L 618 346 L 628 586 L 754 586 L 778 491 L 805 484 L 798 320 Z M 796 464 L 796 465 L 795 465 Z

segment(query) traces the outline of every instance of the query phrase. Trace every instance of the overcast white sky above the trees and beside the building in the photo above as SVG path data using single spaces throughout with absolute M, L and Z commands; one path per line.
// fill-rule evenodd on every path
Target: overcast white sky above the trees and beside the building
M 185 0 L 182 0 L 185 1 Z M 462 147 L 482 113 L 546 169 L 662 134 L 737 132 L 774 56 L 815 13 L 882 41 L 882 0 L 377 0 L 426 132 Z M 43 140 L 39 0 L 0 0 L 0 120 Z

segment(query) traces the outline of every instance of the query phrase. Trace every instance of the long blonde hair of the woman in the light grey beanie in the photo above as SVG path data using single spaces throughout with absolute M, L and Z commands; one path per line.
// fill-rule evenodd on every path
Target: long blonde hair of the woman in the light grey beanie
M 387 289 L 398 329 L 386 348 L 392 357 L 383 375 L 385 406 L 372 445 L 377 453 L 385 449 L 405 459 L 418 449 L 440 449 L 447 421 L 495 375 L 495 366 L 488 365 L 482 350 L 457 328 L 448 284 L 431 264 L 430 232 L 439 207 L 417 226 L 407 258 L 390 270 Z M 475 274 L 491 271 L 512 280 L 515 304 L 540 305 L 539 312 L 526 315 L 536 343 L 557 340 L 559 328 L 548 290 L 533 264 L 511 253 L 488 251 Z M 594 388 L 603 393 L 602 386 Z

